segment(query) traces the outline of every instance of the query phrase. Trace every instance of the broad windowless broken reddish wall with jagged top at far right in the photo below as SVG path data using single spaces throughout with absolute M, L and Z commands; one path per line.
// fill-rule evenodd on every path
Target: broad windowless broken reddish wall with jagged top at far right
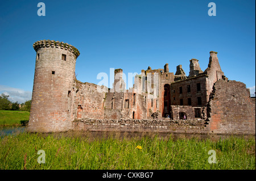
M 207 109 L 210 132 L 255 134 L 254 107 L 244 83 L 224 80 L 214 83 Z

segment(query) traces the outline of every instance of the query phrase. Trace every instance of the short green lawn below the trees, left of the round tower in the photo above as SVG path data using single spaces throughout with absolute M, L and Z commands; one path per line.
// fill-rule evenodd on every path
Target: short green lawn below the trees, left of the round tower
M 30 112 L 0 110 L 0 126 L 22 125 L 28 121 Z

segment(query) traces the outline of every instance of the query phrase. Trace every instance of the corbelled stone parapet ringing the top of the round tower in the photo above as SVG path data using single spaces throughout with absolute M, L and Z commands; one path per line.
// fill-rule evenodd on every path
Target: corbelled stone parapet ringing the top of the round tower
M 40 40 L 36 41 L 33 44 L 33 48 L 37 52 L 39 48 L 60 48 L 68 50 L 69 52 L 72 52 L 75 54 L 76 58 L 80 55 L 80 52 L 77 48 L 73 47 L 72 45 L 69 45 L 67 43 L 64 43 L 63 41 L 55 41 L 55 40 Z

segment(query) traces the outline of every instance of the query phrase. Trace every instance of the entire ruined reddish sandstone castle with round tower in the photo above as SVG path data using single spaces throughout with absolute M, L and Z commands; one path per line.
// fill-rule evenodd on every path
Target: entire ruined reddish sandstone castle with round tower
M 76 79 L 79 50 L 67 43 L 40 40 L 28 130 L 31 132 L 156 131 L 255 134 L 255 100 L 242 82 L 229 81 L 217 52 L 208 68 L 189 60 L 189 75 L 142 70 L 126 90 L 122 69 L 114 70 L 113 88 Z M 100 89 L 100 90 L 99 90 Z

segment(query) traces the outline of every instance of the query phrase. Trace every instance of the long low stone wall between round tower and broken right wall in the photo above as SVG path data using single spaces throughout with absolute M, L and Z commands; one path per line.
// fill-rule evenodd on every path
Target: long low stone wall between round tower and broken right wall
M 206 134 L 208 129 L 204 123 L 204 120 L 82 119 L 73 121 L 73 130 Z

